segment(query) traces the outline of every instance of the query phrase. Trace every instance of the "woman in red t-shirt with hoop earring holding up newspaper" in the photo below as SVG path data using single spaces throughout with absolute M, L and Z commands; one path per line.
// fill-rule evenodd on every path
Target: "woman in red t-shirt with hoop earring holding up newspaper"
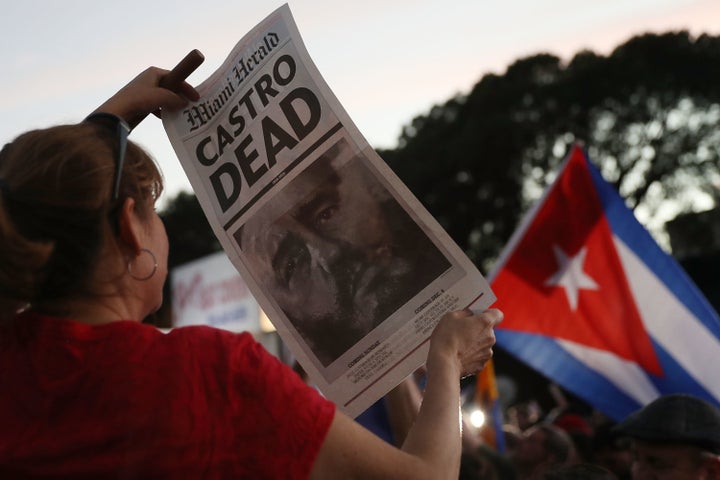
M 127 135 L 198 98 L 167 73 L 0 152 L 0 478 L 457 478 L 459 379 L 491 357 L 498 310 L 440 319 L 401 449 L 247 333 L 141 322 L 168 240 L 160 172 Z

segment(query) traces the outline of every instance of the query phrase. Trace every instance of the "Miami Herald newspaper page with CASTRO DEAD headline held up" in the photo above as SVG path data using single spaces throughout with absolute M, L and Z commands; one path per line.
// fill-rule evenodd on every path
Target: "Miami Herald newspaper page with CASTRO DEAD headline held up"
M 283 5 L 163 123 L 210 225 L 311 381 L 357 416 L 486 280 L 370 147 Z

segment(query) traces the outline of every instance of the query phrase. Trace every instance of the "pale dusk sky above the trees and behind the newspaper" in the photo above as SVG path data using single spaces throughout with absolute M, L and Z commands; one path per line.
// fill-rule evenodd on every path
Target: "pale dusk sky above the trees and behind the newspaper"
M 150 65 L 199 49 L 199 84 L 282 2 L 28 0 L 0 16 L 0 140 L 77 122 Z M 366 0 L 289 2 L 310 56 L 360 131 L 394 147 L 403 125 L 467 93 L 485 73 L 549 52 L 607 54 L 630 37 L 687 29 L 720 34 L 717 0 Z M 189 190 L 161 122 L 132 133 L 158 160 L 167 196 Z

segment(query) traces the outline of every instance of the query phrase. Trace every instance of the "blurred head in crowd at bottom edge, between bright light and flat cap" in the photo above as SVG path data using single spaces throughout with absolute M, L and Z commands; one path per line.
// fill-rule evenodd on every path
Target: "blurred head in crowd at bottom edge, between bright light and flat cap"
M 536 480 L 553 468 L 569 465 L 575 458 L 572 440 L 562 429 L 538 423 L 523 432 L 510 460 L 520 480 Z

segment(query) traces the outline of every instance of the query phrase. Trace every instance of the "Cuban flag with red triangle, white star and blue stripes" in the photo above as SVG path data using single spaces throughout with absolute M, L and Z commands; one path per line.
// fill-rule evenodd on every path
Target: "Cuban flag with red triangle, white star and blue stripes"
M 720 405 L 720 319 L 579 147 L 490 275 L 497 344 L 615 420 L 667 393 Z

